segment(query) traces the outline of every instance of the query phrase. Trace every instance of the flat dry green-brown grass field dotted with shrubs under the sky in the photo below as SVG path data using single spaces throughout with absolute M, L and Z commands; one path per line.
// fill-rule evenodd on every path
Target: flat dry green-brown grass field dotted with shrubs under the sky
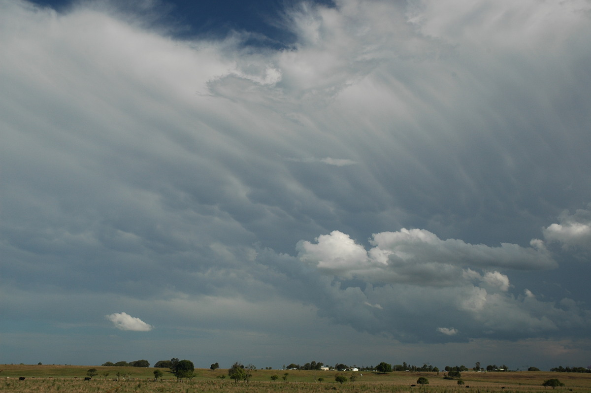
M 92 381 L 84 381 L 86 371 L 96 368 L 98 375 Z M 340 372 L 354 382 L 338 384 L 334 371 L 303 370 L 257 370 L 253 372 L 251 382 L 235 382 L 228 378 L 220 380 L 219 375 L 226 375 L 226 369 L 196 369 L 196 376 L 191 381 L 177 382 L 167 369 L 160 369 L 164 376 L 154 382 L 154 368 L 102 367 L 102 366 L 62 366 L 62 365 L 0 365 L 1 392 L 80 392 L 80 393 L 535 393 L 535 392 L 591 392 L 591 374 L 556 373 L 556 372 L 463 372 L 464 386 L 457 381 L 443 379 L 443 373 L 429 372 Z M 117 372 L 126 375 L 117 377 Z M 287 378 L 282 376 L 287 372 Z M 107 373 L 107 375 L 103 375 Z M 272 382 L 271 375 L 280 378 Z M 24 381 L 19 377 L 24 376 Z M 429 384 L 411 386 L 424 376 Z M 322 382 L 318 381 L 323 378 Z M 562 388 L 551 389 L 541 386 L 546 379 L 558 378 L 565 384 Z M 115 379 L 115 380 L 113 380 Z M 469 386 L 469 387 L 467 387 Z M 335 392 L 335 393 L 336 393 Z

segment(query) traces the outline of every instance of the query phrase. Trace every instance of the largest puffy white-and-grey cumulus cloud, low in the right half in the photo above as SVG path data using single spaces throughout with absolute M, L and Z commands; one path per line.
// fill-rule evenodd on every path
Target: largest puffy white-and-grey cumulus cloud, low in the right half
M 422 285 L 455 285 L 465 278 L 463 268 L 503 267 L 512 269 L 548 269 L 556 261 L 534 239 L 532 247 L 509 243 L 499 247 L 472 245 L 458 239 L 441 240 L 424 229 L 375 233 L 366 251 L 348 235 L 337 230 L 316 238 L 316 244 L 301 241 L 297 245 L 301 261 L 321 271 L 342 277 L 363 277 L 372 282 L 408 282 Z M 499 272 L 487 272 L 482 281 L 506 291 L 509 280 Z

